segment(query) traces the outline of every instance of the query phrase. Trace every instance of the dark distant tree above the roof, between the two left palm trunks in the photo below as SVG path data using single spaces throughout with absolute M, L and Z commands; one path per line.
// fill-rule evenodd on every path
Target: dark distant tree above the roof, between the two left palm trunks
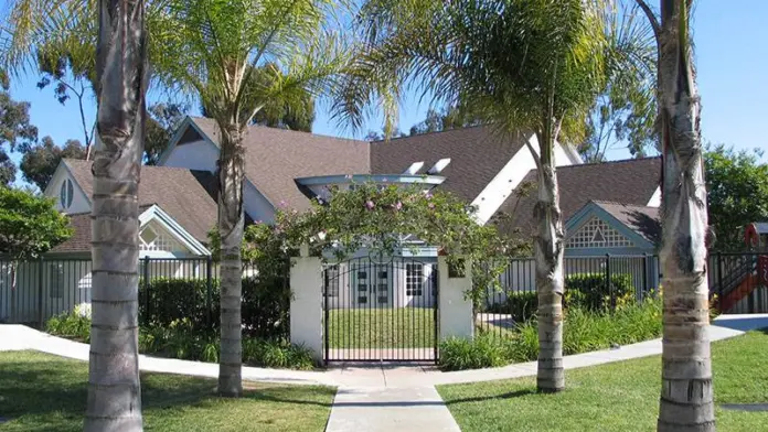
M 147 140 L 145 142 L 145 165 L 157 165 L 171 137 L 186 116 L 189 107 L 183 104 L 154 104 L 147 110 Z

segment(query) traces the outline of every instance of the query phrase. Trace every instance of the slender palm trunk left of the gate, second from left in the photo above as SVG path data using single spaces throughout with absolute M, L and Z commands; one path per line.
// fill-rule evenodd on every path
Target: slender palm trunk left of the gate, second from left
M 243 130 L 237 125 L 221 125 L 222 150 L 218 160 L 218 233 L 222 245 L 221 284 L 221 357 L 218 393 L 239 397 L 243 393 L 242 320 L 243 293 Z

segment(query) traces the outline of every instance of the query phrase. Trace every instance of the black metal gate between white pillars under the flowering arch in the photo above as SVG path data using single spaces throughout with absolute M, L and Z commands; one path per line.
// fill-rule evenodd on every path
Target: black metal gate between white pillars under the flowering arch
M 323 270 L 324 359 L 436 361 L 437 262 L 354 258 Z

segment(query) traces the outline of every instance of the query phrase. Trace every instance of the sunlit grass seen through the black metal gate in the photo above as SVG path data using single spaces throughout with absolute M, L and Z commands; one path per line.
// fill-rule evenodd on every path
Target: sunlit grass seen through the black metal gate
M 425 348 L 435 346 L 431 307 L 335 309 L 329 312 L 331 348 Z

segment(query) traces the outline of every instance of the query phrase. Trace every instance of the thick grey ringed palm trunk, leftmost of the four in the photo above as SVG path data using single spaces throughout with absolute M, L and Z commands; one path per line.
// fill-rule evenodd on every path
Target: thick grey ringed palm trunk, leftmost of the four
M 140 431 L 139 171 L 148 83 L 143 1 L 99 1 L 86 431 Z

